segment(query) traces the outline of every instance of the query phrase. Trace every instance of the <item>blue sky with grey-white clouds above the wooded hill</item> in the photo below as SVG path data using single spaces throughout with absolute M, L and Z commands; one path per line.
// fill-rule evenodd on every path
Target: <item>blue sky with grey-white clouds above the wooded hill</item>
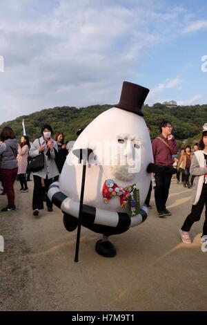
M 0 0 L 0 123 L 117 103 L 124 80 L 206 104 L 206 17 L 206 0 Z

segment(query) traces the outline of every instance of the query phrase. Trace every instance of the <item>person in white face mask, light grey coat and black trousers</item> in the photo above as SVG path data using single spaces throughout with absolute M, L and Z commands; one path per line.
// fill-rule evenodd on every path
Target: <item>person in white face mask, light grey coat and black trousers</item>
M 43 169 L 33 172 L 34 190 L 32 198 L 33 215 L 38 216 L 39 210 L 43 209 L 43 198 L 41 192 L 41 179 L 44 180 L 46 194 L 48 187 L 52 184 L 53 178 L 59 175 L 57 165 L 55 163 L 55 151 L 58 151 L 57 142 L 51 138 L 53 131 L 49 124 L 43 125 L 41 128 L 41 138 L 35 139 L 31 145 L 29 154 L 31 157 L 37 156 L 41 152 L 44 154 Z M 46 205 L 48 212 L 52 212 L 52 203 L 46 196 Z

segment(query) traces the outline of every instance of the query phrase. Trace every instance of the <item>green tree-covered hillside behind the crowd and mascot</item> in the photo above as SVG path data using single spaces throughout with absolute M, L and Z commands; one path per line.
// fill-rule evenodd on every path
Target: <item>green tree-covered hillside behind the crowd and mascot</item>
M 54 131 L 61 131 L 65 140 L 75 140 L 77 129 L 86 127 L 94 118 L 112 105 L 93 105 L 77 109 L 76 107 L 62 106 L 53 109 L 43 109 L 30 115 L 19 116 L 15 120 L 4 122 L 0 130 L 8 125 L 14 129 L 17 138 L 22 135 L 22 120 L 25 122 L 26 133 L 32 140 L 40 136 L 41 126 L 51 124 Z M 195 106 L 179 106 L 169 108 L 164 104 L 156 103 L 153 106 L 142 108 L 146 123 L 152 128 L 152 138 L 159 134 L 159 122 L 170 120 L 173 125 L 173 134 L 181 142 L 188 142 L 199 138 L 202 125 L 207 122 L 207 104 Z M 127 122 L 127 121 L 126 121 Z

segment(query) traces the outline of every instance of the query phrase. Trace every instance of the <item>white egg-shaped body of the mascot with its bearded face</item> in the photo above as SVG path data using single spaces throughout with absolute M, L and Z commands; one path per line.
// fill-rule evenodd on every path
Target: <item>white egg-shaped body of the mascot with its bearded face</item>
M 112 107 L 95 118 L 77 138 L 73 149 L 83 148 L 92 149 L 94 154 L 86 169 L 83 203 L 103 210 L 126 212 L 117 195 L 104 203 L 103 185 L 106 180 L 112 180 L 123 188 L 136 184 L 142 207 L 150 186 L 150 174 L 146 168 L 153 162 L 144 118 Z M 59 178 L 59 189 L 77 202 L 81 193 L 82 169 L 78 158 L 70 151 Z

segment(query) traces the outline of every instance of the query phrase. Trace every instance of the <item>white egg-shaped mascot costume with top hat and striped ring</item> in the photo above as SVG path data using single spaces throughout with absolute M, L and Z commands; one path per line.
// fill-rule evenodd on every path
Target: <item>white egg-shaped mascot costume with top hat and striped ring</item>
M 121 234 L 146 220 L 144 205 L 153 166 L 152 145 L 141 106 L 149 90 L 124 82 L 119 104 L 101 113 L 83 129 L 68 154 L 59 177 L 48 191 L 50 200 L 63 212 L 68 231 L 77 228 L 82 165 L 78 149 L 91 149 L 86 167 L 81 225 L 103 234 L 96 251 L 114 257 L 108 236 Z

